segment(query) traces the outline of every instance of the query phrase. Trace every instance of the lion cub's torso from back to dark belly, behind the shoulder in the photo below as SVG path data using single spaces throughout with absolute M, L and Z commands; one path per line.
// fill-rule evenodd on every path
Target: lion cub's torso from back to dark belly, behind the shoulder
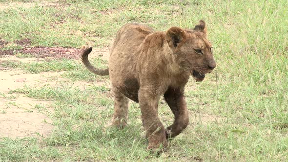
M 117 32 L 108 62 L 112 85 L 126 97 L 138 101 L 139 80 L 137 72 L 140 45 L 153 29 L 144 24 L 128 23 Z

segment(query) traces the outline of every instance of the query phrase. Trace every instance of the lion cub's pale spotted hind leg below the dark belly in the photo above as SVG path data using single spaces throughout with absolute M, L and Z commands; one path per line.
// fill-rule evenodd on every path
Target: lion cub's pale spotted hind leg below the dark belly
M 116 87 L 113 87 L 112 90 L 114 95 L 113 125 L 123 128 L 127 124 L 129 99 L 118 91 Z

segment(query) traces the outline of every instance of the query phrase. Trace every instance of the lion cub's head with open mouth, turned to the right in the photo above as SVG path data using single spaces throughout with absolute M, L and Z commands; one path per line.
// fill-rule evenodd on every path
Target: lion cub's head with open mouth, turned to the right
M 206 39 L 206 23 L 200 23 L 193 30 L 171 27 L 166 32 L 166 41 L 177 64 L 189 71 L 196 81 L 203 81 L 206 73 L 212 72 L 216 63 L 212 45 Z

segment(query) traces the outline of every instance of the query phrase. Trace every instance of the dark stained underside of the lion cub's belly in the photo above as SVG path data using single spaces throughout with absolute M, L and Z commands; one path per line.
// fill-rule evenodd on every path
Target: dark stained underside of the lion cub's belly
M 125 79 L 123 84 L 116 86 L 117 89 L 127 98 L 135 102 L 138 100 L 138 91 L 140 88 L 139 82 L 137 79 Z

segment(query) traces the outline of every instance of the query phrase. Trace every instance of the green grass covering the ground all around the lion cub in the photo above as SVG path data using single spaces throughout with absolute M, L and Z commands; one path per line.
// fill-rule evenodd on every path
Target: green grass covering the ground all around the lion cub
M 55 130 L 44 139 L 1 139 L 0 161 L 288 160 L 287 0 L 56 3 L 61 6 L 0 11 L 0 38 L 12 44 L 4 48 L 21 48 L 15 41 L 25 38 L 31 40 L 31 46 L 103 47 L 110 45 L 117 30 L 127 22 L 142 22 L 165 31 L 174 25 L 193 28 L 204 19 L 215 48 L 217 85 L 215 72 L 203 82 L 188 82 L 185 96 L 190 125 L 170 142 L 167 153 L 155 158 L 145 150 L 139 104 L 130 104 L 128 126 L 117 130 L 107 126 L 113 116 L 108 87 L 71 86 L 74 81 L 108 82 L 108 77 L 95 76 L 73 60 L 1 61 L 0 67 L 21 68 L 27 73 L 63 71 L 61 77 L 70 83 L 55 87 L 26 85 L 13 91 L 54 101 L 51 116 Z M 107 64 L 101 59 L 92 61 L 103 68 Z M 5 98 L 6 94 L 0 96 Z M 45 111 L 41 106 L 35 109 Z M 212 120 L 200 122 L 199 115 Z M 165 125 L 173 120 L 164 103 L 160 104 L 159 116 Z

